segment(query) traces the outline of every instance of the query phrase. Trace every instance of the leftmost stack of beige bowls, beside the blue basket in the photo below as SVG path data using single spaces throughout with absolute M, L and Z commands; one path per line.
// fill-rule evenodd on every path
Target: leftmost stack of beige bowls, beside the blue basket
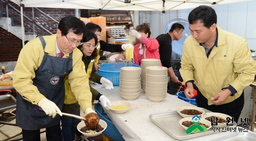
M 140 95 L 140 67 L 122 67 L 120 70 L 120 95 L 132 100 Z

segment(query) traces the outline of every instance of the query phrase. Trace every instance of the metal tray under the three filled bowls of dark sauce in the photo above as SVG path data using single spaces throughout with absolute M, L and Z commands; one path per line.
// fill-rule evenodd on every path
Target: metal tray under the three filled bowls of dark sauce
M 207 109 L 204 109 L 204 111 L 205 113 L 211 112 Z M 180 119 L 182 119 L 183 117 L 180 116 L 177 111 L 151 114 L 149 115 L 149 118 L 153 123 L 155 123 L 158 127 L 164 130 L 167 134 L 169 134 L 171 137 L 178 140 L 184 140 L 184 139 L 217 133 L 209 129 L 208 131 L 205 131 L 205 132 L 186 134 L 185 130 L 182 128 L 182 126 L 180 126 L 180 123 L 179 123 Z M 236 126 L 235 122 L 234 122 L 234 126 Z

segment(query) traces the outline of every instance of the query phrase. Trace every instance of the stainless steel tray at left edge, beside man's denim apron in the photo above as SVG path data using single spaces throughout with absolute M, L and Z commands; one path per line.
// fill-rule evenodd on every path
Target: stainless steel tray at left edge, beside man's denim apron
M 0 95 L 0 111 L 16 107 L 16 99 L 12 95 Z

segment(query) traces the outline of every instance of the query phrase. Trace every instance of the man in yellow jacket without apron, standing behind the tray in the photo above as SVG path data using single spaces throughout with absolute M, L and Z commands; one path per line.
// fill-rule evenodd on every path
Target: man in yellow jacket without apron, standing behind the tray
M 187 98 L 197 86 L 198 107 L 234 117 L 237 123 L 244 106 L 244 87 L 256 74 L 247 41 L 218 27 L 217 15 L 201 5 L 188 15 L 189 36 L 183 46 L 180 74 Z

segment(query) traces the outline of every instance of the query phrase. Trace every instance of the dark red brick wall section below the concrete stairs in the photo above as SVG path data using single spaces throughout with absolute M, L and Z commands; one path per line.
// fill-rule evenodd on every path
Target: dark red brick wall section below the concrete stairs
M 17 61 L 22 40 L 0 27 L 0 62 Z

